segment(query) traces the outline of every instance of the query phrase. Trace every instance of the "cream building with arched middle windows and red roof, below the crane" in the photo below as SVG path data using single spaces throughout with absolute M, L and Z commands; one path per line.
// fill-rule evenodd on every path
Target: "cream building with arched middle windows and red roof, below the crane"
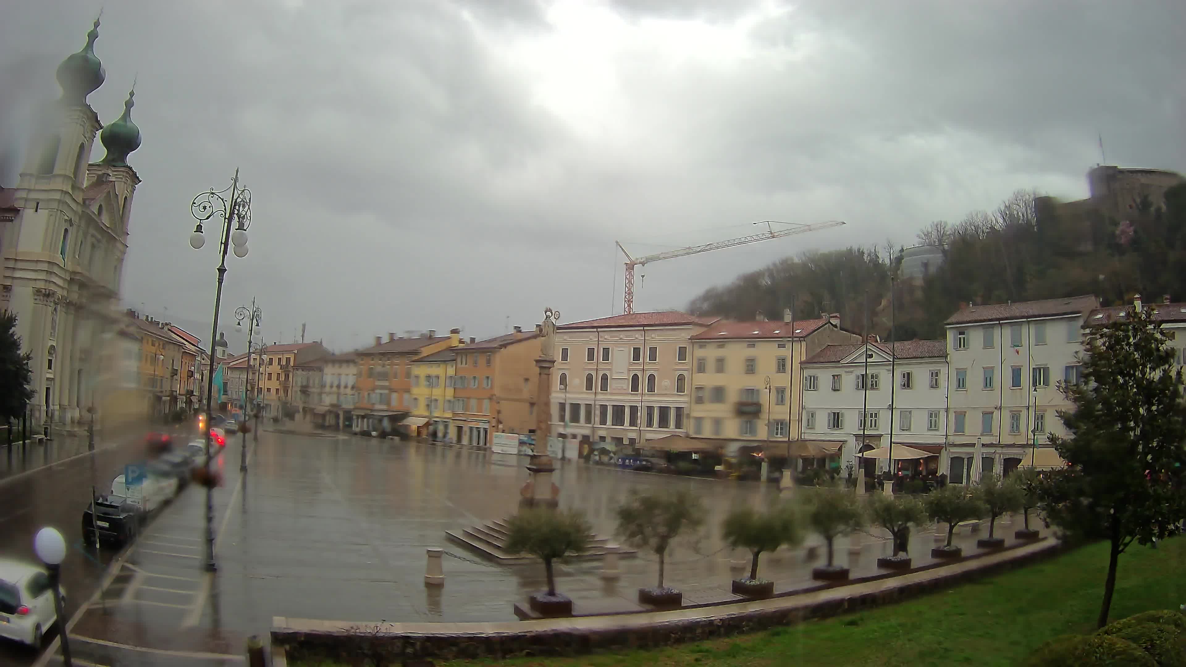
M 715 322 L 680 311 L 636 312 L 556 328 L 551 432 L 632 452 L 684 434 L 691 342 Z

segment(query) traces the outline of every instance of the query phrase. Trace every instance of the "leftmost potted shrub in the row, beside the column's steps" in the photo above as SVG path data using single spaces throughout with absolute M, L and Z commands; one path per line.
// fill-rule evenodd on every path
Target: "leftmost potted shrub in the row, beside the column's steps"
M 529 553 L 543 561 L 548 590 L 528 597 L 541 616 L 572 616 L 573 601 L 556 592 L 551 561 L 585 551 L 592 528 L 585 515 L 574 510 L 528 508 L 506 520 L 506 551 Z

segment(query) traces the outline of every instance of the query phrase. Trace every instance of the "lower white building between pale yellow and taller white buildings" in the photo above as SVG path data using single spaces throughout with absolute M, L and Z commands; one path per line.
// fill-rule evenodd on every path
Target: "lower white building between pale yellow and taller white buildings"
M 802 368 L 804 438 L 843 443 L 841 465 L 854 469 L 857 453 L 892 439 L 894 446 L 933 455 L 922 459 L 923 471 L 939 471 L 946 428 L 944 341 L 828 345 Z M 885 460 L 862 460 L 866 475 L 886 468 Z

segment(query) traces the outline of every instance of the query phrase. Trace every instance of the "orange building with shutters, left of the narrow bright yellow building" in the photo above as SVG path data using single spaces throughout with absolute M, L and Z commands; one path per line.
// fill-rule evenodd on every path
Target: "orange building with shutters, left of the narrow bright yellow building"
M 355 379 L 358 401 L 353 408 L 353 428 L 363 432 L 391 432 L 403 424 L 415 432 L 427 424 L 423 418 L 404 417 L 413 409 L 412 361 L 423 355 L 461 344 L 461 330 L 438 336 L 435 329 L 416 337 L 388 333 L 387 341 L 375 336 L 375 344 L 355 352 L 358 373 Z M 402 421 L 401 421 L 402 420 Z

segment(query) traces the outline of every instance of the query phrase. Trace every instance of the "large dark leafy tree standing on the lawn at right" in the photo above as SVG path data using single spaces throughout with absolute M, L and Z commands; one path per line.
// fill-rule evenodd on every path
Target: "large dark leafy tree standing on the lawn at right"
M 1108 621 L 1118 557 L 1186 519 L 1186 405 L 1169 337 L 1146 306 L 1092 329 L 1080 383 L 1060 383 L 1075 409 L 1067 437 L 1051 437 L 1064 469 L 1042 476 L 1038 507 L 1069 534 L 1104 539 L 1108 578 L 1098 624 Z

